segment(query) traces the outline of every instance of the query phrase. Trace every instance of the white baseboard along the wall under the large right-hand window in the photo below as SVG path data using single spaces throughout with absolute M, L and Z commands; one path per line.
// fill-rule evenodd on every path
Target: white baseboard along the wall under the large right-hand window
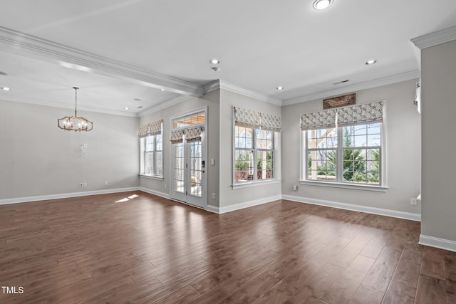
M 328 206 L 338 209 L 346 209 L 352 211 L 360 211 L 369 214 L 378 214 L 384 216 L 397 217 L 399 219 L 410 219 L 411 221 L 421 221 L 421 214 L 414 214 L 411 212 L 395 211 L 390 209 L 381 209 L 369 206 L 353 205 L 346 203 L 339 203 L 338 201 L 325 201 L 323 199 L 309 199 L 307 197 L 282 195 L 282 199 L 289 201 L 299 201 L 300 203 L 314 204 L 320 206 Z

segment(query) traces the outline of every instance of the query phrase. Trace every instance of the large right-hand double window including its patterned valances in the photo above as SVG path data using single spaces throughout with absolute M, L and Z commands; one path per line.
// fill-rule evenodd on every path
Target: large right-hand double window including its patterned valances
M 301 115 L 302 180 L 382 186 L 383 101 Z

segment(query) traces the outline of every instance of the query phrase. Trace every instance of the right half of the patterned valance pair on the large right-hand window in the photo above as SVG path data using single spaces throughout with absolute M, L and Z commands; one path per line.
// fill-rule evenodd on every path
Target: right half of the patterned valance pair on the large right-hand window
M 338 125 L 366 125 L 383 122 L 383 101 L 376 103 L 361 103 L 350 107 L 338 108 Z

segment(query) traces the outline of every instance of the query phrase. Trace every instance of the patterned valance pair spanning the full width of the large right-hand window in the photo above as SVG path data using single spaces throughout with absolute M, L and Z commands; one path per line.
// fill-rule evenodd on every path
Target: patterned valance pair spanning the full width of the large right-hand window
M 301 115 L 301 130 L 383 122 L 384 101 L 361 103 Z

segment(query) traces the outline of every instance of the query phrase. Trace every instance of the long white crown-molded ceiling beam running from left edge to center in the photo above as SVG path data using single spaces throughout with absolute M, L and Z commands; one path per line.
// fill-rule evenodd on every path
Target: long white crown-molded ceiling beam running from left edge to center
M 63 46 L 1 26 L 0 43 L 13 46 L 13 48 L 4 48 L 2 51 L 11 53 L 21 51 L 26 56 L 38 56 L 38 58 L 63 66 L 68 67 L 70 65 L 78 70 L 86 70 L 109 77 L 127 78 L 141 85 L 159 89 L 163 88 L 181 95 L 199 97 L 203 94 L 202 85 L 162 75 L 119 61 L 113 61 L 109 58 Z

